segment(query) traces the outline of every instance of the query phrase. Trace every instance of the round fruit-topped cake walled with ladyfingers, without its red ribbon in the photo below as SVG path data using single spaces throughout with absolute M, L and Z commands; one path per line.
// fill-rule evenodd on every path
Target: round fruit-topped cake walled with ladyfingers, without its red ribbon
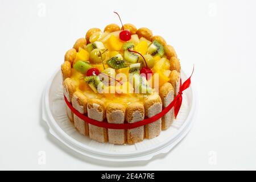
M 134 123 L 167 107 L 179 92 L 180 61 L 162 36 L 133 24 L 91 28 L 65 53 L 63 91 L 79 113 L 108 123 Z M 174 121 L 174 110 L 134 129 L 91 125 L 67 106 L 77 131 L 98 142 L 134 144 L 157 137 Z

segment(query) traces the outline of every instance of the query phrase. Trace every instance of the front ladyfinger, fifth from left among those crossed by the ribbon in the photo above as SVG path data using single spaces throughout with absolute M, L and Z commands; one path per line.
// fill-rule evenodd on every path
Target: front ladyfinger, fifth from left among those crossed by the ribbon
M 144 106 L 141 103 L 132 103 L 126 107 L 126 121 L 135 123 L 144 119 Z M 129 144 L 141 142 L 144 139 L 144 126 L 126 130 L 126 141 Z

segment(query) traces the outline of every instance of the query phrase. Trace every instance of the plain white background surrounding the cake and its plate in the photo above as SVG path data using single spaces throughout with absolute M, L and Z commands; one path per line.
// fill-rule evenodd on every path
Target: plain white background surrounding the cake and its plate
M 256 1 L 0 0 L 0 169 L 256 169 Z M 191 132 L 150 162 L 85 158 L 52 137 L 42 92 L 91 27 L 119 20 L 175 47 L 199 103 Z M 38 163 L 39 151 L 46 164 Z

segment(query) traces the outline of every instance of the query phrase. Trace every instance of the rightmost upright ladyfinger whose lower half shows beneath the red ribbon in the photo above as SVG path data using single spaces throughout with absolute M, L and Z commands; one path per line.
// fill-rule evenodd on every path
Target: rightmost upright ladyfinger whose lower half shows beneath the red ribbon
M 163 107 L 167 107 L 174 100 L 174 88 L 170 82 L 164 83 L 159 90 L 159 95 L 163 102 Z M 162 117 L 162 130 L 168 129 L 174 121 L 174 108 Z

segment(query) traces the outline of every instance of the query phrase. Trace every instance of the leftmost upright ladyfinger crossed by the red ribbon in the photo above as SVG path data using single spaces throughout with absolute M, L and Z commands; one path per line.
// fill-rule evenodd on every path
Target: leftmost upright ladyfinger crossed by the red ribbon
M 71 78 L 65 78 L 65 80 L 63 81 L 63 93 L 64 93 L 64 96 L 67 98 L 68 102 L 71 102 L 73 93 L 75 92 L 75 90 L 76 88 Z M 67 115 L 69 120 L 73 122 L 73 113 L 67 105 L 66 105 L 66 110 L 67 110 Z

